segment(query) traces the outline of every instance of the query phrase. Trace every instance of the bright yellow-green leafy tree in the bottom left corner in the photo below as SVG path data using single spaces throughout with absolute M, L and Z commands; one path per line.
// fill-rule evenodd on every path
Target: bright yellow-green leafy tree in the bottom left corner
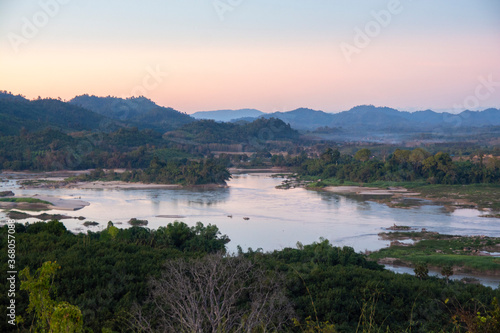
M 19 273 L 22 279 L 21 290 L 29 293 L 27 311 L 34 312 L 36 319 L 31 328 L 39 332 L 81 332 L 83 323 L 80 309 L 67 302 L 57 303 L 50 298 L 54 276 L 59 268 L 61 267 L 56 262 L 46 261 L 33 276 L 29 267 Z

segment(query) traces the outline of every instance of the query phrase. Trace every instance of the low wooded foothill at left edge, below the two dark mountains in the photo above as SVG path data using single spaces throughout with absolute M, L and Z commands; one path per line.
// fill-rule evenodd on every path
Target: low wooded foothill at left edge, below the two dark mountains
M 169 146 L 152 130 L 122 128 L 111 133 L 76 132 L 68 135 L 46 129 L 17 136 L 0 136 L 0 170 L 83 170 L 146 168 L 152 158 L 200 157 Z

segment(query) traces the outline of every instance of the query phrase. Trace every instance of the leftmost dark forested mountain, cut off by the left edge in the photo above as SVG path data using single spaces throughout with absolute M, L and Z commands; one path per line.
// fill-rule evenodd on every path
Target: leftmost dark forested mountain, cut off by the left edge
M 0 95 L 0 134 L 15 135 L 21 128 L 38 131 L 47 127 L 65 132 L 97 130 L 108 118 L 56 99 L 29 101 L 21 96 Z M 118 122 L 116 122 L 118 123 Z

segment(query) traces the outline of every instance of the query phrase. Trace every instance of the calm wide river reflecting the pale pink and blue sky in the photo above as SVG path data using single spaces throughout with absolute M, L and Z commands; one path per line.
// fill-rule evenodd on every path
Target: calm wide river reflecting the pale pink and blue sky
M 244 250 L 251 247 L 271 251 L 295 247 L 298 241 L 309 244 L 320 237 L 336 246 L 373 251 L 389 245 L 389 241 L 380 240 L 377 234 L 393 224 L 444 234 L 500 237 L 499 220 L 481 218 L 479 215 L 483 213 L 475 209 L 450 212 L 431 202 L 413 208 L 390 208 L 364 198 L 324 191 L 276 189 L 282 180 L 270 174 L 234 174 L 228 188 L 142 190 L 20 189 L 11 180 L 0 183 L 0 191 L 12 190 L 16 195 L 49 194 L 90 202 L 75 212 L 48 212 L 84 216 L 87 221 L 100 223 L 87 228 L 83 226 L 84 221 L 63 220 L 66 227 L 75 232 L 98 231 L 105 228 L 108 221 L 117 227 L 128 227 L 127 221 L 133 217 L 148 220 L 149 228 L 175 220 L 188 225 L 198 221 L 215 224 L 231 239 L 229 251 L 236 251 L 237 245 Z M 6 219 L 5 213 L 0 212 L 0 219 Z M 493 285 L 498 286 L 498 282 L 494 281 Z

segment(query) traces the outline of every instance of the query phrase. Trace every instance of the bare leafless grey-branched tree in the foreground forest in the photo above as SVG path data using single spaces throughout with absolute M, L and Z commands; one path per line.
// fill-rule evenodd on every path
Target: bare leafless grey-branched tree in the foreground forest
M 223 254 L 168 261 L 150 281 L 146 308 L 137 306 L 133 318 L 144 332 L 268 332 L 293 314 L 279 274 Z

